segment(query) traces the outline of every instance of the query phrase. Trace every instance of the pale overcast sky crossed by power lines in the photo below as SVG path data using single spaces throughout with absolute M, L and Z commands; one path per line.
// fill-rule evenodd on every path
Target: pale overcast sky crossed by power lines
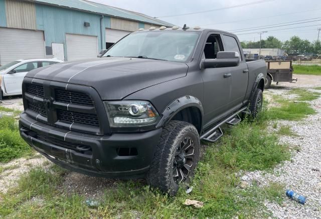
M 268 36 L 275 36 L 279 40 L 285 41 L 292 36 L 298 36 L 302 39 L 314 41 L 317 40 L 317 29 L 321 28 L 321 0 L 90 1 L 139 12 L 151 17 L 159 18 L 163 21 L 167 21 L 180 27 L 183 27 L 184 24 L 187 24 L 189 27 L 200 26 L 201 28 L 211 28 L 234 32 L 239 37 L 240 41 L 258 41 L 260 38 L 258 32 L 260 31 L 267 31 L 267 33 L 262 35 L 262 39 L 265 39 Z M 235 7 L 244 4 L 248 5 L 243 7 Z M 222 8 L 229 9 L 217 10 Z M 195 12 L 203 13 L 190 14 Z M 190 15 L 166 17 L 181 14 Z M 268 28 L 267 25 L 288 26 Z M 249 30 L 249 28 L 262 29 Z M 321 40 L 321 31 L 319 39 Z

